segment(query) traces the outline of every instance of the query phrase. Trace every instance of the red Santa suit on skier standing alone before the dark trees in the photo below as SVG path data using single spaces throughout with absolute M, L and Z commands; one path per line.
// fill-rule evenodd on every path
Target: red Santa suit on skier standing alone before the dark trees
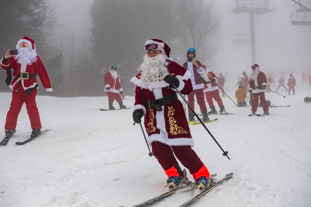
M 111 70 L 110 70 L 111 71 Z M 122 102 L 122 98 L 120 96 L 120 92 L 123 92 L 123 89 L 120 86 L 120 82 L 118 79 L 118 74 L 115 73 L 115 76 L 113 77 L 113 73 L 108 73 L 105 74 L 105 88 L 104 88 L 104 93 L 108 95 L 108 101 L 114 101 L 114 99 L 120 103 Z M 109 90 L 107 89 L 109 88 Z

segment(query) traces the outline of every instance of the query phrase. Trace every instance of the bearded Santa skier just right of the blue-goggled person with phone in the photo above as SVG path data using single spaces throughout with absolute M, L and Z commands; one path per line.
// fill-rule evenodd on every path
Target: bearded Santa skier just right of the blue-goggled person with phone
M 215 101 L 217 101 L 217 104 L 220 108 L 219 113 L 225 114 L 227 113 L 225 110 L 225 106 L 222 103 L 222 100 L 219 96 L 219 88 L 216 85 L 217 76 L 211 71 L 211 70 L 205 70 L 202 75 L 198 75 L 198 79 L 201 81 L 201 83 L 204 84 L 204 92 L 206 95 L 207 103 L 210 107 L 210 111 L 207 113 L 210 114 L 217 114 L 217 110 L 215 109 L 213 98 Z

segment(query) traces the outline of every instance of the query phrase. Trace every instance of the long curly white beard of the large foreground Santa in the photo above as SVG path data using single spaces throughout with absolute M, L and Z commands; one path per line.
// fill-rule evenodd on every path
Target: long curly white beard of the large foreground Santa
M 144 56 L 144 61 L 139 66 L 138 71 L 141 71 L 140 79 L 150 91 L 153 89 L 151 83 L 163 80 L 166 75 L 170 74 L 166 67 L 168 65 L 169 63 L 162 54 L 154 57 Z

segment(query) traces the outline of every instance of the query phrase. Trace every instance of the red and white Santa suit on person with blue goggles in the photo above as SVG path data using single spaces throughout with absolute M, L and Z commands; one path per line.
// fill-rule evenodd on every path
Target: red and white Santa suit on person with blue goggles
M 201 81 L 197 78 L 199 74 L 204 73 L 204 69 L 202 68 L 202 65 L 200 61 L 197 61 L 197 64 L 200 66 L 197 68 L 196 65 L 192 64 L 192 62 L 185 62 L 183 64 L 183 67 L 189 71 L 191 74 L 190 81 L 192 84 L 192 92 L 188 95 L 188 103 L 189 105 L 194 109 L 194 94 L 197 97 L 197 104 L 200 106 L 200 110 L 202 113 L 207 112 L 207 108 L 204 101 L 204 84 L 201 83 Z M 188 111 L 190 112 L 190 108 L 188 107 Z

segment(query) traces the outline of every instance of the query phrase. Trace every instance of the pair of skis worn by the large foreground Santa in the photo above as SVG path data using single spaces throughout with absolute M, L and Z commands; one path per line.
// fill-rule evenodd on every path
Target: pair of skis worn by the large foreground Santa
M 183 203 L 182 205 L 180 205 L 179 207 L 184 207 L 184 206 L 187 206 L 189 204 L 191 204 L 192 202 L 194 202 L 195 200 L 197 200 L 198 198 L 200 198 L 201 196 L 203 196 L 204 194 L 206 194 L 207 192 L 211 191 L 212 189 L 214 189 L 216 186 L 218 186 L 220 183 L 224 182 L 225 180 L 227 180 L 228 178 L 230 178 L 231 176 L 233 175 L 233 173 L 230 173 L 228 175 L 226 175 L 224 178 L 222 178 L 220 181 L 218 182 L 214 182 L 209 188 L 207 189 L 204 189 L 202 192 L 200 192 L 198 195 L 196 196 L 193 196 L 190 200 L 186 201 L 185 203 Z M 215 177 L 216 174 L 214 175 L 211 175 L 210 178 L 213 178 Z M 169 191 L 169 192 L 166 192 L 164 194 L 161 194 L 159 196 L 156 196 L 150 200 L 146 200 L 145 202 L 142 202 L 140 204 L 137 204 L 137 205 L 134 205 L 132 207 L 140 207 L 140 206 L 145 206 L 147 204 L 150 204 L 156 200 L 159 200 L 161 198 L 164 198 L 164 197 L 167 197 L 169 195 L 172 195 L 173 193 L 177 192 L 177 191 L 180 191 L 180 190 L 183 190 L 183 189 L 187 189 L 187 190 L 191 190 L 193 189 L 193 187 L 195 186 L 195 182 L 188 182 L 186 184 L 184 184 L 184 186 L 182 187 L 178 187 L 178 188 L 175 188 L 174 190 L 172 191 Z M 185 190 L 186 191 L 186 190 Z M 184 191 L 183 191 L 184 192 Z M 124 206 L 120 206 L 120 207 L 124 207 Z

